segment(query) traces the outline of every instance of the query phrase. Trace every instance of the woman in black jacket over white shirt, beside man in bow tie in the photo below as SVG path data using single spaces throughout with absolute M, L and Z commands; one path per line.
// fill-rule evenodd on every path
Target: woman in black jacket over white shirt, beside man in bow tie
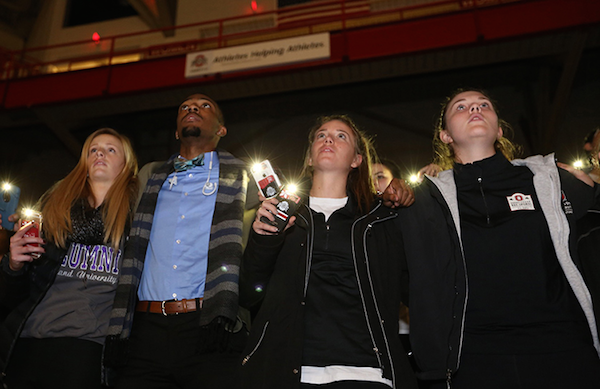
M 375 201 L 370 140 L 347 116 L 309 133 L 310 197 L 285 231 L 274 199 L 257 211 L 241 303 L 260 305 L 242 361 L 247 388 L 414 388 L 398 339 L 402 241 Z M 412 200 L 406 195 L 406 202 Z

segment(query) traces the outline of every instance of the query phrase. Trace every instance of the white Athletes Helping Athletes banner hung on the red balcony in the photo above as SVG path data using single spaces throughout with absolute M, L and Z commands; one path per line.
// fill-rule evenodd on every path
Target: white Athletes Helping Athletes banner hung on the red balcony
M 185 77 L 327 59 L 330 56 L 328 32 L 304 35 L 189 53 L 185 61 Z

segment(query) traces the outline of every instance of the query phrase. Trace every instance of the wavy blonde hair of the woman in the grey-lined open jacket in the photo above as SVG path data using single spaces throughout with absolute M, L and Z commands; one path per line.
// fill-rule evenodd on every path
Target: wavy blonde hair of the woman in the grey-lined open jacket
M 500 112 L 497 109 L 496 102 L 490 97 L 490 95 L 477 88 L 465 88 L 465 89 L 456 89 L 450 96 L 448 96 L 444 102 L 442 103 L 442 109 L 440 111 L 440 115 L 437 119 L 435 130 L 433 134 L 433 151 L 435 153 L 434 163 L 442 168 L 442 170 L 451 169 L 454 166 L 454 162 L 456 162 L 456 157 L 454 155 L 454 149 L 447 143 L 442 142 L 440 139 L 440 132 L 442 130 L 446 130 L 446 113 L 448 111 L 448 104 L 452 99 L 454 99 L 457 95 L 463 92 L 479 92 L 484 95 L 491 103 L 492 109 L 498 116 L 498 126 L 502 128 L 502 136 L 496 140 L 494 143 L 494 148 L 496 151 L 504 154 L 506 159 L 509 161 L 517 158 L 521 154 L 521 146 L 511 142 L 506 135 L 509 134 L 512 136 L 513 129 L 511 125 L 505 120 L 500 118 Z

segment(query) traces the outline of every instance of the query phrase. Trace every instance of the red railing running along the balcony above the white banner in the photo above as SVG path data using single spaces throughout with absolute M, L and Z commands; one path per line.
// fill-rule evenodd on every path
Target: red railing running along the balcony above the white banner
M 381 0 L 316 1 L 276 11 L 108 36 L 99 42 L 82 40 L 20 51 L 2 49 L 0 79 L 111 66 L 250 42 L 324 31 L 344 31 L 366 25 L 526 1 L 532 0 L 442 0 L 387 9 L 384 6 L 386 2 Z M 162 36 L 165 31 L 174 31 L 176 38 L 173 42 L 157 44 L 158 41 L 165 40 Z M 132 45 L 139 47 L 128 48 Z

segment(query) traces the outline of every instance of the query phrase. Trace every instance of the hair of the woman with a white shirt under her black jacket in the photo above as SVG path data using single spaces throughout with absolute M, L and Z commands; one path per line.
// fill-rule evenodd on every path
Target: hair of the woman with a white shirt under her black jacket
M 315 134 L 323 124 L 332 120 L 339 120 L 352 129 L 355 139 L 354 150 L 356 154 L 362 155 L 361 164 L 357 168 L 350 170 L 350 173 L 348 174 L 346 189 L 354 195 L 356 202 L 358 203 L 358 210 L 361 214 L 364 214 L 369 210 L 375 195 L 375 184 L 373 183 L 373 175 L 371 174 L 371 165 L 376 159 L 376 154 L 372 139 L 361 131 L 349 116 L 330 115 L 321 116 L 317 119 L 316 123 L 308 133 L 308 148 L 306 149 L 306 154 L 304 156 L 302 174 L 312 178 L 313 169 L 309 165 L 309 160 L 312 145 L 315 141 Z

